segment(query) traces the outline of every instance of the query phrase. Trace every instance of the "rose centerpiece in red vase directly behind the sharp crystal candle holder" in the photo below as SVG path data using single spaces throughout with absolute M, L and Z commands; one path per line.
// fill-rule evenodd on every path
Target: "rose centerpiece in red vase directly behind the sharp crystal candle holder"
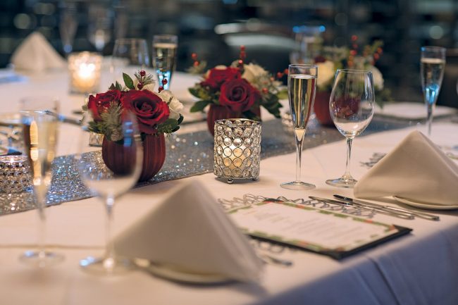
M 206 64 L 197 61 L 193 54 L 194 66 L 191 73 L 202 73 Z M 261 119 L 260 107 L 266 108 L 273 116 L 280 118 L 282 105 L 278 99 L 283 92 L 281 83 L 268 71 L 254 63 L 245 63 L 245 47 L 240 47 L 240 58 L 231 66 L 216 66 L 202 75 L 202 81 L 189 88 L 190 93 L 199 99 L 191 112 L 207 112 L 207 125 L 213 135 L 215 120 L 225 118 Z M 280 78 L 283 73 L 278 73 Z

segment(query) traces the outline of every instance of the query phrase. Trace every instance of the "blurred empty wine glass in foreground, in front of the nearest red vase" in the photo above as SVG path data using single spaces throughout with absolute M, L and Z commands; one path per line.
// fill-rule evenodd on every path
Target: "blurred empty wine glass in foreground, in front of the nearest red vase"
M 96 275 L 118 275 L 127 272 L 132 267 L 128 259 L 117 257 L 114 251 L 111 225 L 113 223 L 113 207 L 115 199 L 128 192 L 140 177 L 143 162 L 143 147 L 137 120 L 132 113 L 125 111 L 120 116 L 116 133 L 122 135 L 117 143 L 116 151 L 107 151 L 109 156 L 97 153 L 87 153 L 87 129 L 89 115 L 82 120 L 80 137 L 80 153 L 75 157 L 80 178 L 85 186 L 94 192 L 106 206 L 106 251 L 103 257 L 89 256 L 80 261 L 83 270 Z M 113 131 L 115 132 L 115 131 Z M 112 133 L 113 135 L 113 133 Z M 113 143 L 112 143 L 113 144 Z M 120 149 L 120 150 L 119 150 Z M 117 168 L 111 170 L 104 163 L 104 158 L 113 158 Z

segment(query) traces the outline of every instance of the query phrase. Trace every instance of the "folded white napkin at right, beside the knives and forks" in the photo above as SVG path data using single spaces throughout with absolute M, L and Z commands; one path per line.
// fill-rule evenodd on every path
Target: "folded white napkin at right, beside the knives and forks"
M 397 196 L 454 205 L 458 202 L 458 166 L 428 137 L 414 131 L 357 182 L 354 196 Z

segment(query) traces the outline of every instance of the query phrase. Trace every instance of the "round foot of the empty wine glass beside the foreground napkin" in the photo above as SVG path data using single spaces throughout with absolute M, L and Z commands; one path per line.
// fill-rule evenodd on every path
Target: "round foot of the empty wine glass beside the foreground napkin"
M 128 273 L 134 264 L 123 258 L 94 258 L 88 256 L 80 261 L 80 267 L 87 273 L 94 275 L 122 275 Z

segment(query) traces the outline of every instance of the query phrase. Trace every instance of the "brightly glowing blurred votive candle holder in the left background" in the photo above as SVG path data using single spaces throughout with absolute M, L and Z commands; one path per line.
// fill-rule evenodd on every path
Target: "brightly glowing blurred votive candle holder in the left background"
M 101 61 L 101 55 L 87 51 L 68 56 L 71 93 L 89 94 L 99 91 Z

